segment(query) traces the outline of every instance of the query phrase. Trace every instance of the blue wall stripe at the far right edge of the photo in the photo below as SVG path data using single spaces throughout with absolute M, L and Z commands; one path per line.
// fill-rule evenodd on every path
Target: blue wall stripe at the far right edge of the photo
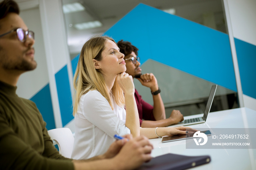
M 256 46 L 234 39 L 243 93 L 256 98 Z

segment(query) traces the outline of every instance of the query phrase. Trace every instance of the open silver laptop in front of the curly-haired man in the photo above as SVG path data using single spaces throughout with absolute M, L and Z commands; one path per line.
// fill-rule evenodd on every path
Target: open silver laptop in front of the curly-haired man
M 196 117 L 196 118 L 192 118 L 192 119 L 188 119 L 187 116 L 184 116 L 184 120 L 174 124 L 174 125 L 170 125 L 168 127 L 177 127 L 177 126 L 185 126 L 185 125 L 191 125 L 191 124 L 198 124 L 198 123 L 204 123 L 206 122 L 207 116 L 210 112 L 211 109 L 211 104 L 215 95 L 217 89 L 217 85 L 212 85 L 211 87 L 211 91 L 210 91 L 210 95 L 206 104 L 206 108 L 204 110 L 204 116 L 203 117 Z

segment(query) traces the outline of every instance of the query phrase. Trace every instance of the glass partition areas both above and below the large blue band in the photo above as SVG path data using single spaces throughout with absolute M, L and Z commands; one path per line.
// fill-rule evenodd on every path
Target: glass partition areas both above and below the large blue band
M 227 33 L 222 0 L 62 0 L 62 3 L 71 60 L 88 38 L 106 32 L 139 3 Z M 128 23 L 124 27 L 136 25 Z M 154 73 L 157 77 L 167 117 L 173 109 L 184 116 L 204 111 L 211 82 L 150 59 L 141 68 L 143 73 Z M 137 80 L 135 88 L 145 101 L 153 104 L 148 88 Z M 218 86 L 211 112 L 237 108 L 237 100 L 236 92 Z

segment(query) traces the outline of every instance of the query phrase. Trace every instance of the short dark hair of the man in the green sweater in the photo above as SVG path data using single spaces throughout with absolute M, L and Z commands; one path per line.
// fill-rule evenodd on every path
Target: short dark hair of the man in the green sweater
M 0 3 L 0 19 L 5 18 L 8 13 L 14 12 L 19 15 L 19 6 L 13 0 L 4 0 Z

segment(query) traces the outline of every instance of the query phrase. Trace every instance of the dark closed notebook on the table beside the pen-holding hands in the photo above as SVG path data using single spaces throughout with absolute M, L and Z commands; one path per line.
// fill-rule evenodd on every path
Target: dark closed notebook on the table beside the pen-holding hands
M 152 158 L 150 162 L 142 164 L 138 170 L 182 170 L 203 165 L 211 161 L 210 156 L 185 156 L 177 154 L 165 154 Z

